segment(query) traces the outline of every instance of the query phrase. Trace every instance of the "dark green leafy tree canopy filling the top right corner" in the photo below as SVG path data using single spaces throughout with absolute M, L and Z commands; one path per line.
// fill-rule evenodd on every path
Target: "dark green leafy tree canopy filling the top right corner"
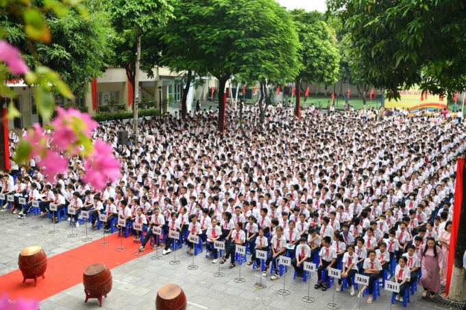
M 329 0 L 328 14 L 357 59 L 355 72 L 389 98 L 419 86 L 451 94 L 465 88 L 466 8 L 452 1 Z

